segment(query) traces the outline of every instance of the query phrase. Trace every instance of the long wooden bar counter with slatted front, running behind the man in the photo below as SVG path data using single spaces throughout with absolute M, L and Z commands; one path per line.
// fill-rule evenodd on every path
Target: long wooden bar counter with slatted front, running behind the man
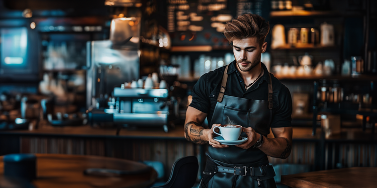
M 325 138 L 320 128 L 312 136 L 312 127 L 293 127 L 293 142 L 292 154 L 287 159 L 269 157 L 270 163 L 308 164 L 315 170 L 331 169 L 338 163 L 377 165 L 377 135 L 368 129 L 346 129 Z M 207 145 L 194 144 L 184 138 L 183 125 L 176 125 L 167 133 L 162 127 L 122 128 L 119 135 L 116 128 L 40 125 L 35 130 L 0 131 L 0 144 L 2 155 L 62 153 L 157 160 L 169 170 L 173 162 L 183 156 L 195 155 L 204 162 L 207 150 Z

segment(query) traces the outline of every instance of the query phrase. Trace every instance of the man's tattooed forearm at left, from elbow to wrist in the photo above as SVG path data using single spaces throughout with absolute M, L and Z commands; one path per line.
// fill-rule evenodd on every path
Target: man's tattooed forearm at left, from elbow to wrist
M 208 136 L 207 131 L 198 122 L 189 121 L 184 124 L 184 137 L 186 140 L 197 143 L 197 144 L 207 144 Z

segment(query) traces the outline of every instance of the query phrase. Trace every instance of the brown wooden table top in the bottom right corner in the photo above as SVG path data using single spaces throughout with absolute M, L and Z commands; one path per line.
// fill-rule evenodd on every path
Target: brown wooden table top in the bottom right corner
M 281 183 L 293 188 L 376 187 L 377 167 L 351 167 L 282 175 Z

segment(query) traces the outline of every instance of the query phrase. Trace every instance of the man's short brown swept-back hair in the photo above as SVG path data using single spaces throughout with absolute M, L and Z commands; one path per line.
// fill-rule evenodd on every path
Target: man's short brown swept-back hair
M 225 25 L 224 36 L 229 43 L 233 40 L 240 40 L 256 36 L 259 44 L 264 43 L 269 31 L 269 22 L 259 15 L 244 14 L 233 19 Z

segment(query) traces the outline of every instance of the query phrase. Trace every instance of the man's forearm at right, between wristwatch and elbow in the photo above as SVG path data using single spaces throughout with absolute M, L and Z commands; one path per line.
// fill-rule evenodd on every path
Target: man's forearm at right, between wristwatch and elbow
M 264 136 L 263 144 L 258 148 L 268 156 L 285 159 L 291 154 L 292 142 L 285 137 L 267 138 Z

